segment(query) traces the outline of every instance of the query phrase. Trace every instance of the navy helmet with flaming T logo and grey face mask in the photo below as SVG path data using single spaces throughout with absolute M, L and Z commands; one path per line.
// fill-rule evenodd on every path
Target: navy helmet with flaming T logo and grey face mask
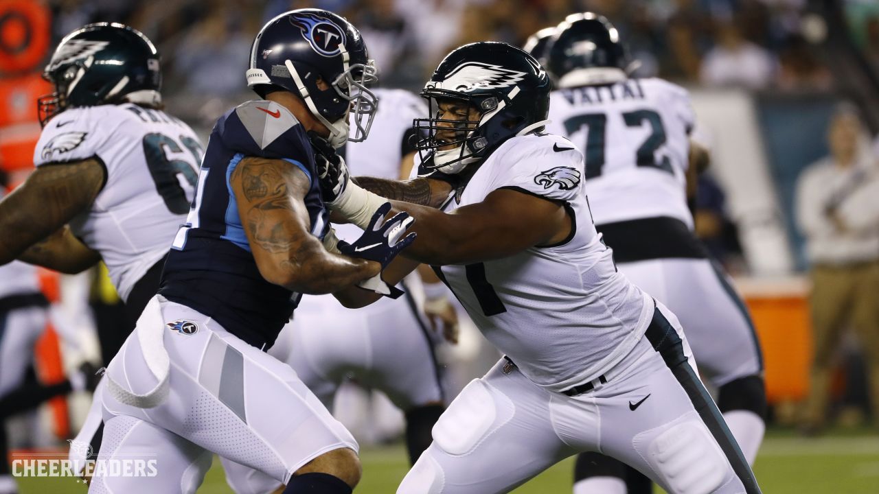
M 357 30 L 345 18 L 320 9 L 288 11 L 272 18 L 251 48 L 247 86 L 261 98 L 272 91 L 290 91 L 330 129 L 335 148 L 345 141 L 366 139 L 377 98 L 368 89 L 378 80 L 374 62 Z M 318 81 L 326 86 L 318 87 Z M 348 132 L 354 113 L 357 134 Z

